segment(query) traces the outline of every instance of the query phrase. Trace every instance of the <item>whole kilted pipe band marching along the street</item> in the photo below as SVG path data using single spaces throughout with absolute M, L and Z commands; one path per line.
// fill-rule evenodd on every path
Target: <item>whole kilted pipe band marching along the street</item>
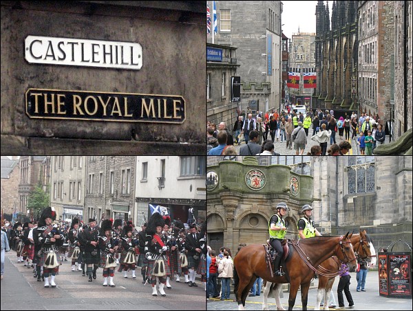
M 88 282 L 103 270 L 103 286 L 114 288 L 115 270 L 123 277 L 136 279 L 140 267 L 142 283 L 151 284 L 152 295 L 166 296 L 171 280 L 181 281 L 189 287 L 198 287 L 196 274 L 206 283 L 206 222 L 184 224 L 158 212 L 147 223 L 135 228 L 131 221 L 94 218 L 88 223 L 72 219 L 70 226 L 56 221 L 53 208 L 45 208 L 38 223 L 6 223 L 1 227 L 1 279 L 5 270 L 5 253 L 14 250 L 17 263 L 33 269 L 37 281 L 45 288 L 56 288 L 56 276 L 64 261 L 71 261 L 72 272 L 81 271 Z M 158 286 L 157 286 L 158 281 Z

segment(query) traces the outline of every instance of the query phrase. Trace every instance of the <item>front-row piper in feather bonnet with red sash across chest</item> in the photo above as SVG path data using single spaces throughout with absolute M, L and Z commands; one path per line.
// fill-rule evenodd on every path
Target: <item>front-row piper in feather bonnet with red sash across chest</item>
M 170 274 L 168 265 L 165 264 L 167 258 L 165 252 L 168 250 L 165 242 L 162 241 L 162 228 L 165 220 L 156 212 L 149 218 L 145 236 L 145 256 L 148 259 L 147 277 L 151 280 L 152 296 L 158 296 L 156 291 L 156 277 L 159 277 L 159 292 L 166 296 L 164 288 L 167 283 L 167 274 Z

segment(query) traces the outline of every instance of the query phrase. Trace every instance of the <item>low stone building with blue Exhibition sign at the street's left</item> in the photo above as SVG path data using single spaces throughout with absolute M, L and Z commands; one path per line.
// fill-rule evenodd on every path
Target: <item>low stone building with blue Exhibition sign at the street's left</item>
M 237 120 L 238 103 L 231 101 L 231 77 L 237 76 L 237 48 L 207 43 L 207 49 L 221 52 L 221 57 L 207 55 L 207 120 L 225 122 L 229 130 Z

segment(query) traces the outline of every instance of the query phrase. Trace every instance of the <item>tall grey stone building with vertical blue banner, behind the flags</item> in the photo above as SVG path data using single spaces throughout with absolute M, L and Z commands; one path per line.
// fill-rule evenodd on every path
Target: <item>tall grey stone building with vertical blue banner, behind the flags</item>
M 212 8 L 212 1 L 208 3 Z M 237 48 L 240 110 L 252 106 L 252 110 L 265 113 L 268 108 L 278 108 L 282 81 L 282 1 L 215 1 L 215 5 L 218 33 L 214 43 Z M 212 42 L 211 36 L 207 42 Z

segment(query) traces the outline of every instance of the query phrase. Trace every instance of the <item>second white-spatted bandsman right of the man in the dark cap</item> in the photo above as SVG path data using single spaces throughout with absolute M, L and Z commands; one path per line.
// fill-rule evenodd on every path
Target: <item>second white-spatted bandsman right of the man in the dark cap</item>
M 132 237 L 132 232 L 134 228 L 128 224 L 123 228 L 125 232 L 125 237 L 122 237 L 122 253 L 120 254 L 120 266 L 118 272 L 124 271 L 124 276 L 127 278 L 127 272 L 132 270 L 132 277 L 136 279 L 135 269 L 136 269 L 136 256 L 135 247 L 138 245 L 138 240 Z

